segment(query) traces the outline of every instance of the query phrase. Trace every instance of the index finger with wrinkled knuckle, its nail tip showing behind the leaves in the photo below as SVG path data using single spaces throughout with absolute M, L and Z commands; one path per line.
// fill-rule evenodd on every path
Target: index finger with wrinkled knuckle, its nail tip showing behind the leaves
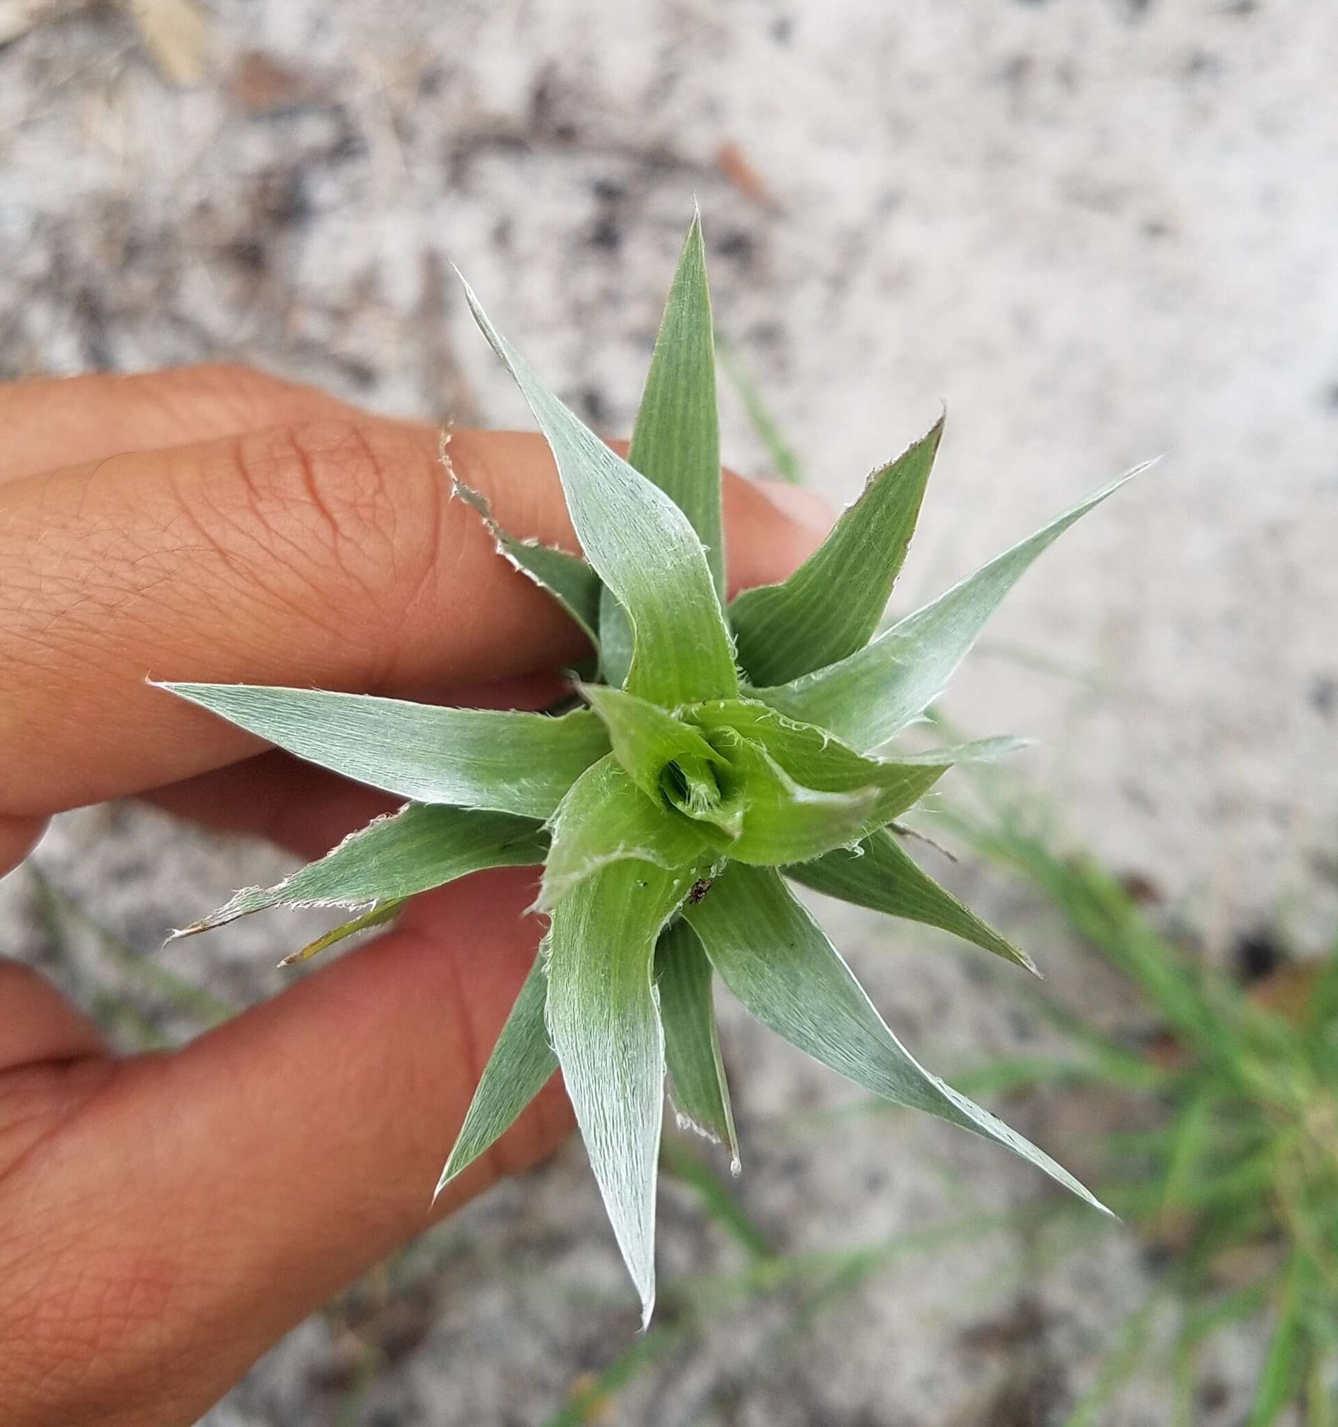
M 572 547 L 536 435 L 452 457 L 521 537 Z M 727 482 L 735 569 L 819 538 Z M 452 501 L 425 427 L 322 421 L 113 457 L 0 488 L 0 815 L 190 778 L 258 742 L 145 676 L 399 692 L 553 669 L 582 641 Z

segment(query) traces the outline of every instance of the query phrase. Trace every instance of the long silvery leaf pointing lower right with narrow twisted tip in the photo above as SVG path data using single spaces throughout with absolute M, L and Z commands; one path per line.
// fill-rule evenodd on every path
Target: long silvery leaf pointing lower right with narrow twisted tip
M 732 863 L 683 916 L 725 985 L 779 1036 L 894 1104 L 1006 1146 L 1104 1209 L 1048 1154 L 911 1057 L 776 872 Z

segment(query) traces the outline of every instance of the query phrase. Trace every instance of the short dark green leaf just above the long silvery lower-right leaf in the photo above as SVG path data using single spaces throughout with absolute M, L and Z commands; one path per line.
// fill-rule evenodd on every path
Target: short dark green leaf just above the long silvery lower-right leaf
M 782 868 L 787 878 L 814 892 L 903 916 L 951 932 L 996 956 L 1034 972 L 1026 952 L 1000 936 L 987 922 L 923 872 L 890 832 L 876 832 L 859 848 L 837 848 L 813 862 Z

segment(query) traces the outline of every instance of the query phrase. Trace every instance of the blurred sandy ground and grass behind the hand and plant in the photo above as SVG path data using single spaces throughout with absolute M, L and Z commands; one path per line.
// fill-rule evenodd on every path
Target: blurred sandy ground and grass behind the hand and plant
M 947 404 L 900 608 L 1164 454 L 943 704 L 1040 741 L 920 826 L 1046 986 L 820 905 L 1124 1224 L 725 1006 L 745 1174 L 666 1147 L 648 1336 L 571 1143 L 208 1427 L 1338 1421 L 1338 9 L 0 0 L 0 377 L 235 358 L 528 425 L 456 263 L 626 434 L 695 195 L 730 465 L 839 505 Z M 174 1043 L 325 923 L 164 930 L 282 868 L 71 813 L 0 936 Z

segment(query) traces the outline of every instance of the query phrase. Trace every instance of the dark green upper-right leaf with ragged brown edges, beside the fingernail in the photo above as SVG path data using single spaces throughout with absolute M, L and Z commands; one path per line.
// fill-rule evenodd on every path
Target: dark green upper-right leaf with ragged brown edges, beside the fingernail
M 864 646 L 906 561 L 941 435 L 940 420 L 874 471 L 860 498 L 789 579 L 745 589 L 732 601 L 729 624 L 749 682 L 783 684 Z

